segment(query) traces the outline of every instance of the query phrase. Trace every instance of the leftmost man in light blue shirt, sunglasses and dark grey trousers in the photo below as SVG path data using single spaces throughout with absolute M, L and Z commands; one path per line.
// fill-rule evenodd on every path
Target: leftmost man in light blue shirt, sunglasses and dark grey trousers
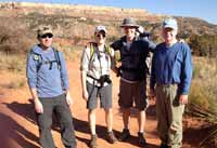
M 28 54 L 26 75 L 34 99 L 39 125 L 39 142 L 42 148 L 55 148 L 52 135 L 52 115 L 61 125 L 65 148 L 76 148 L 76 139 L 69 105 L 69 83 L 63 54 L 52 48 L 50 26 L 37 30 L 39 44 Z

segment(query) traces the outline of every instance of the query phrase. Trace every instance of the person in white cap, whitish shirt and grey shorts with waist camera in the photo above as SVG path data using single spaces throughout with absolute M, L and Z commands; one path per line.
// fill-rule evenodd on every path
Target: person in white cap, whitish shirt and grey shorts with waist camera
M 112 112 L 112 80 L 110 69 L 114 51 L 105 44 L 107 30 L 104 26 L 97 26 L 94 30 L 94 42 L 88 43 L 84 50 L 80 70 L 82 84 L 82 98 L 87 100 L 88 120 L 90 123 L 91 140 L 90 147 L 98 147 L 98 136 L 95 133 L 95 109 L 98 97 L 100 97 L 101 108 L 105 111 L 107 132 L 105 138 L 114 144 L 117 139 L 113 133 Z

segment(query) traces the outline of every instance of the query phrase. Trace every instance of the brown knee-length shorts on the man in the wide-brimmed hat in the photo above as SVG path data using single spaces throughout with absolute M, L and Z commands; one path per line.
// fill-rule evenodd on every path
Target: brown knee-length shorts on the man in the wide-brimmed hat
M 136 105 L 139 110 L 144 110 L 148 106 L 146 103 L 146 84 L 145 81 L 136 83 L 128 83 L 120 79 L 119 85 L 119 100 L 118 104 L 122 108 L 130 108 Z

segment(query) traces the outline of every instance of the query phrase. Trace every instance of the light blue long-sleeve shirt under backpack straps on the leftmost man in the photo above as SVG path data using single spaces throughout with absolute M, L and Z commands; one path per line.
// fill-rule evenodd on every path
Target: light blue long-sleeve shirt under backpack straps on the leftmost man
M 27 58 L 26 76 L 28 85 L 37 90 L 39 97 L 54 97 L 69 89 L 68 76 L 63 54 L 59 52 L 61 68 L 58 63 L 42 64 L 37 70 L 40 62 L 56 60 L 52 48 L 43 51 L 39 45 L 35 45 Z

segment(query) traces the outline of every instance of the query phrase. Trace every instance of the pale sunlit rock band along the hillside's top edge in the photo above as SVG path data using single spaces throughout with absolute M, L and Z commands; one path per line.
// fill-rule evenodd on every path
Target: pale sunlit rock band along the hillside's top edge
M 40 12 L 42 14 L 62 14 L 68 16 L 80 16 L 97 19 L 122 19 L 123 17 L 144 18 L 151 15 L 145 10 L 120 9 L 112 6 L 92 6 L 79 4 L 48 4 L 34 2 L 2 2 L 1 9 L 17 9 L 28 13 Z M 156 16 L 158 17 L 158 16 Z

